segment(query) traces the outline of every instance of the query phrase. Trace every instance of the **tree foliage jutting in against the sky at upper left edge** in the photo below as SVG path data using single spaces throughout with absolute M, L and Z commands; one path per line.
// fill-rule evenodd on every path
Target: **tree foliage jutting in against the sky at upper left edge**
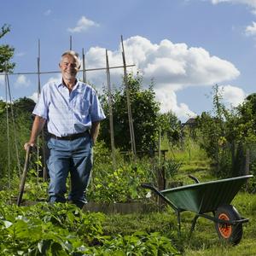
M 10 32 L 10 26 L 4 24 L 1 28 L 0 38 L 3 38 L 8 32 Z M 10 62 L 14 53 L 15 48 L 9 44 L 0 45 L 0 73 L 11 72 L 15 68 L 15 63 Z

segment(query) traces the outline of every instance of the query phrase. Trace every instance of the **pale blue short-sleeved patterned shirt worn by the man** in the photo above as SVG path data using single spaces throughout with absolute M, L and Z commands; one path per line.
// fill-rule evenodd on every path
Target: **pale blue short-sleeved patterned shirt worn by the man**
M 89 130 L 92 122 L 106 118 L 96 91 L 79 81 L 71 92 L 62 81 L 45 84 L 33 114 L 46 119 L 49 133 L 57 137 Z

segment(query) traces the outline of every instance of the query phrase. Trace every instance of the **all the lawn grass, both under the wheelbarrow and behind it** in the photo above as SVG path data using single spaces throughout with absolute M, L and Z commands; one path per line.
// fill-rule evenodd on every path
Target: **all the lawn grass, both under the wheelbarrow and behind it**
M 206 154 L 193 143 L 189 144 L 189 154 L 172 149 L 167 158 L 181 161 L 182 165 L 175 175 L 168 181 L 180 181 L 183 184 L 194 183 L 188 174 L 195 175 L 201 182 L 216 180 L 212 176 L 211 161 Z M 192 149 L 193 150 L 192 150 Z M 186 150 L 188 152 L 188 150 Z M 175 212 L 167 207 L 163 212 L 148 212 L 146 214 L 108 215 L 104 230 L 107 234 L 128 235 L 135 231 L 160 232 L 172 241 L 174 247 L 183 255 L 256 255 L 256 195 L 240 192 L 231 202 L 242 217 L 249 218 L 243 224 L 241 242 L 235 247 L 218 239 L 214 223 L 206 218 L 199 218 L 193 236 L 189 239 L 189 230 L 194 218 L 192 212 L 182 212 L 182 235 L 177 236 L 177 218 Z

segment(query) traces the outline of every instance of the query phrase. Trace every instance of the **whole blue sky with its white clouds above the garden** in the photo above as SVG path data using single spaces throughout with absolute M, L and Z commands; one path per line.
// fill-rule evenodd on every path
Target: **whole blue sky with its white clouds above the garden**
M 37 70 L 38 39 L 41 71 L 56 71 L 60 55 L 85 51 L 86 68 L 122 65 L 120 35 L 125 40 L 130 71 L 143 74 L 144 86 L 154 79 L 161 111 L 182 119 L 212 109 L 212 86 L 223 90 L 227 106 L 236 106 L 254 92 L 256 81 L 255 0 L 73 0 L 1 1 L 0 26 L 11 32 L 0 44 L 15 47 L 15 73 Z M 122 69 L 111 70 L 113 86 Z M 41 84 L 60 75 L 41 75 Z M 105 72 L 88 72 L 101 91 Z M 37 98 L 36 75 L 9 76 L 13 99 Z M 0 76 L 0 98 L 5 82 Z

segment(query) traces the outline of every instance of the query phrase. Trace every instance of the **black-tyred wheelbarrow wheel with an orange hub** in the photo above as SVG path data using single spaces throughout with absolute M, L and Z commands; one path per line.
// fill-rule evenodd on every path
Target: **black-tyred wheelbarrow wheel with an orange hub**
M 223 220 L 239 220 L 240 214 L 236 211 L 236 208 L 230 205 L 218 207 L 215 218 Z M 228 241 L 233 245 L 238 244 L 241 241 L 242 236 L 242 224 L 235 225 L 215 223 L 215 229 L 218 233 L 218 237 L 223 241 Z

